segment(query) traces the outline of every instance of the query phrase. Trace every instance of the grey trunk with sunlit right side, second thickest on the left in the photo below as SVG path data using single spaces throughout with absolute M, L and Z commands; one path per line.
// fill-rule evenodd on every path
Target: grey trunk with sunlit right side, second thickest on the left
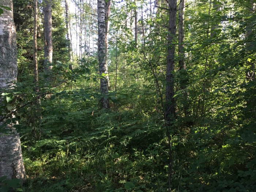
M 50 67 L 47 66 L 47 63 L 52 63 L 52 0 L 44 0 L 44 70 L 49 77 L 47 80 L 51 80 Z

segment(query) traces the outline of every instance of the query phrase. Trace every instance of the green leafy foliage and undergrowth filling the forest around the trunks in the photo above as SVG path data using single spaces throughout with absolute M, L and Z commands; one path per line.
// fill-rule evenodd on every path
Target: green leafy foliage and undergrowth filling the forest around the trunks
M 256 16 L 247 1 L 214 1 L 219 11 L 210 2 L 193 1 L 185 11 L 186 69 L 178 71 L 177 64 L 173 72 L 176 119 L 170 126 L 170 187 L 184 192 L 255 191 L 256 81 L 246 74 L 254 70 Z M 112 5 L 109 95 L 99 93 L 99 79 L 105 75 L 98 74 L 96 54 L 86 53 L 76 69 L 68 68 L 59 1 L 53 6 L 52 82 L 45 82 L 41 65 L 39 93 L 34 91 L 29 57 L 31 31 L 22 23 L 17 28 L 20 75 L 13 89 L 3 90 L 0 112 L 6 121 L 0 130 L 19 121 L 14 127 L 21 135 L 28 176 L 23 191 L 167 190 L 169 146 L 161 113 L 167 10 L 157 8 L 152 16 L 142 8 L 146 1 L 125 3 Z M 94 10 L 88 3 L 83 6 L 87 12 Z M 136 8 L 144 12 L 138 45 L 131 29 Z M 24 14 L 32 26 L 31 12 Z M 176 52 L 176 63 L 178 59 Z M 111 110 L 99 108 L 102 97 L 110 99 Z

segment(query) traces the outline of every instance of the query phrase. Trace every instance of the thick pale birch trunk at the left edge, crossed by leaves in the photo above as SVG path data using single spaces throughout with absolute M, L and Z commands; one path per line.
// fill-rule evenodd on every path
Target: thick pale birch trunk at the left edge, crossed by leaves
M 13 10 L 11 0 L 1 0 L 1 5 Z M 16 30 L 12 11 L 4 10 L 0 16 L 0 89 L 17 79 Z M 0 100 L 1 102 L 1 100 Z M 11 125 L 9 133 L 0 133 L 0 177 L 25 180 L 19 134 Z

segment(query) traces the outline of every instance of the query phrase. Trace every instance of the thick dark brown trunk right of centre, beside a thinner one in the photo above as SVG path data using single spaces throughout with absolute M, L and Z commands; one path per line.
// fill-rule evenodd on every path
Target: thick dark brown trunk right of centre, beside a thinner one
M 177 0 L 169 0 L 169 30 L 168 30 L 168 44 L 167 44 L 167 68 L 166 68 L 166 109 L 165 115 L 168 121 L 174 120 L 174 52 L 175 44 L 174 38 L 176 33 L 176 13 Z

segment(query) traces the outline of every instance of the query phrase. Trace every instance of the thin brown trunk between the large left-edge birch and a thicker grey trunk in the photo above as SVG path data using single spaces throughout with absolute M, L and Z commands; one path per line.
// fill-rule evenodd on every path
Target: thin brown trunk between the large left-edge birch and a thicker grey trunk
M 37 0 L 34 0 L 34 74 L 35 74 L 35 92 L 39 92 L 38 87 L 38 67 L 37 67 L 37 20 L 38 20 L 38 10 L 37 10 Z

